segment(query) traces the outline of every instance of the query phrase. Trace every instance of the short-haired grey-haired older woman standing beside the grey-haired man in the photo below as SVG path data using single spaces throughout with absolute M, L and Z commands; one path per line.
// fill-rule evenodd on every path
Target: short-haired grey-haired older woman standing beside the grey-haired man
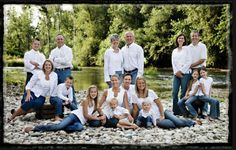
M 104 54 L 104 78 L 105 82 L 111 88 L 111 75 L 117 74 L 119 82 L 122 82 L 123 70 L 123 56 L 119 49 L 118 34 L 111 35 L 111 47 L 106 50 Z

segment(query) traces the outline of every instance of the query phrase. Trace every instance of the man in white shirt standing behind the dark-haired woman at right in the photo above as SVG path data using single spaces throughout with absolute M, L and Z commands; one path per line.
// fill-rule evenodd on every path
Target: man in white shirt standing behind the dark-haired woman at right
M 192 56 L 192 69 L 200 69 L 202 66 L 206 67 L 207 48 L 202 42 L 199 42 L 199 32 L 192 31 L 191 34 L 192 43 L 189 45 L 190 53 Z

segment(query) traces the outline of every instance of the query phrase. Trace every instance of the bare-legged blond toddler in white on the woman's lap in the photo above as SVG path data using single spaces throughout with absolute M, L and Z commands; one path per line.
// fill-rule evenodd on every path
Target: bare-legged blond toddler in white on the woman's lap
M 118 100 L 116 98 L 112 98 L 110 101 L 110 110 L 107 118 L 116 118 L 118 119 L 118 123 L 116 127 L 126 128 L 126 129 L 136 129 L 138 126 L 133 123 L 133 119 L 128 119 L 132 117 L 129 111 L 123 107 L 118 106 Z

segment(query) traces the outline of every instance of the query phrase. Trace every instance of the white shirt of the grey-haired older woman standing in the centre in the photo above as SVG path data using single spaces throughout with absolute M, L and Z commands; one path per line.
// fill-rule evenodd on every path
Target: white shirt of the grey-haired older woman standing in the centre
M 106 50 L 104 54 L 104 80 L 110 81 L 109 75 L 114 75 L 116 71 L 123 71 L 123 56 L 121 51 L 114 52 L 113 48 Z

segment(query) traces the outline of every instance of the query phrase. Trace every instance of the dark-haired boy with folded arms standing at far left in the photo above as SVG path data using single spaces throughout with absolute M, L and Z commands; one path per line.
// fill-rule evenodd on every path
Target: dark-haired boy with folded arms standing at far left
M 33 39 L 31 47 L 32 49 L 24 55 L 24 71 L 26 72 L 25 86 L 33 76 L 34 71 L 42 69 L 45 61 L 44 54 L 39 52 L 40 40 L 38 38 Z

